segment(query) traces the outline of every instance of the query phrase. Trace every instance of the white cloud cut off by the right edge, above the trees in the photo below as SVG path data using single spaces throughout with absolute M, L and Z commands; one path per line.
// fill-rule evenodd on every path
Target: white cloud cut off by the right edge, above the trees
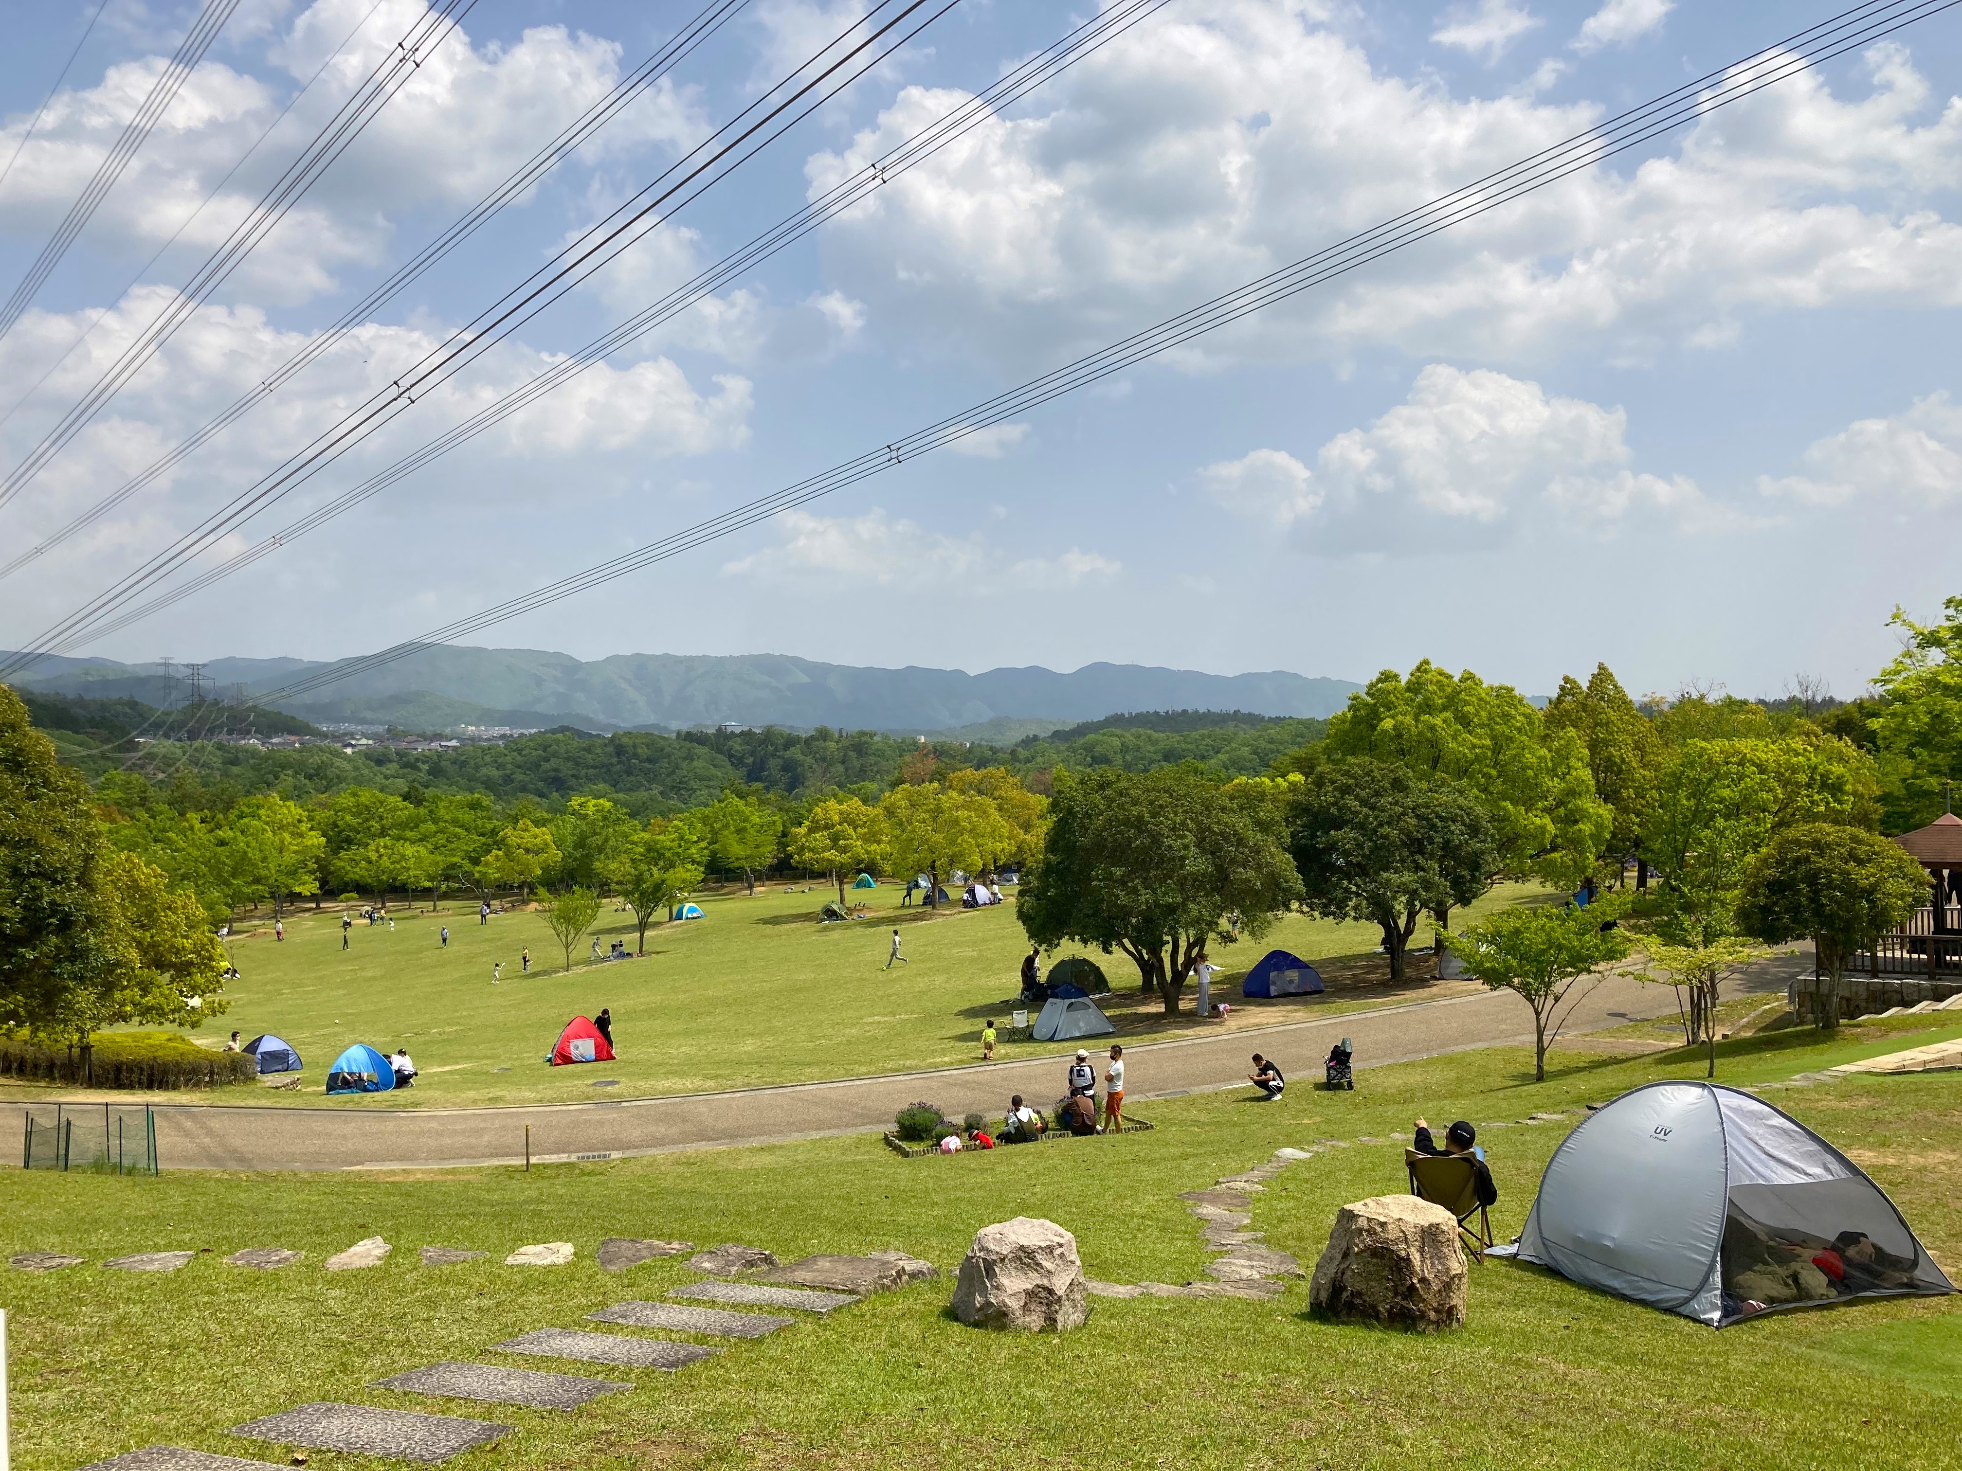
M 1962 404 L 1946 390 L 1885 420 L 1858 420 L 1805 451 L 1805 475 L 1762 477 L 1774 498 L 1834 506 L 1854 498 L 1950 506 L 1962 498 Z

